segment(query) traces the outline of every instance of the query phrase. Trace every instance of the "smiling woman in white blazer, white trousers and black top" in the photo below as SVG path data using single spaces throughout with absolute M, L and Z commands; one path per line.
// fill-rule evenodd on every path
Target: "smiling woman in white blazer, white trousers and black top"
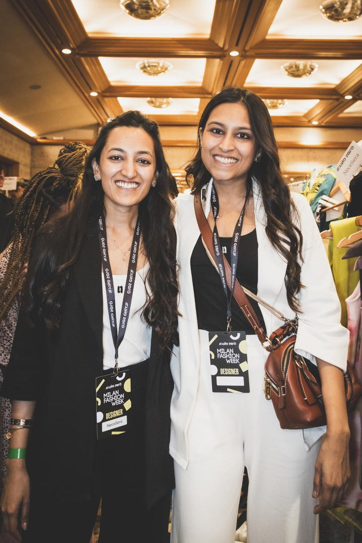
M 269 112 L 250 91 L 227 87 L 211 98 L 186 172 L 191 194 L 176 199 L 180 347 L 171 361 L 171 541 L 234 543 L 246 466 L 248 543 L 313 543 L 317 514 L 335 506 L 349 477 L 342 371 L 348 331 L 319 230 L 307 200 L 283 180 Z M 267 351 L 211 263 L 194 194 L 213 230 L 215 255 L 234 258 L 242 286 L 285 317 L 298 315 L 295 348 L 317 365 L 327 428 L 280 428 L 263 393 Z M 269 336 L 281 321 L 249 301 Z M 209 333 L 215 337 L 228 325 L 246 334 L 249 386 L 239 389 L 211 375 Z M 226 361 L 218 371 L 229 377 L 233 361 L 222 345 Z

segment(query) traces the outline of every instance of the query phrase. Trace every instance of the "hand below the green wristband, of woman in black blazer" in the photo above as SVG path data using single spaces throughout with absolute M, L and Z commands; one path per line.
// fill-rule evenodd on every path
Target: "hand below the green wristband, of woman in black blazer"
M 8 459 L 1 511 L 5 531 L 19 542 L 21 542 L 19 523 L 23 530 L 28 526 L 29 495 L 30 482 L 24 460 Z

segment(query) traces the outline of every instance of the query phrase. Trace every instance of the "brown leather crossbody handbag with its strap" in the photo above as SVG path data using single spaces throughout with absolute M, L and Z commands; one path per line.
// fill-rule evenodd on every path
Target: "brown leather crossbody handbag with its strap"
M 198 195 L 194 197 L 194 205 L 205 247 L 209 257 L 215 262 L 211 229 Z M 230 287 L 230 266 L 226 258 L 223 257 L 223 259 L 226 279 Z M 284 325 L 275 330 L 270 337 L 261 326 L 245 292 L 284 321 Z M 324 426 L 326 413 L 318 369 L 315 364 L 298 355 L 294 350 L 298 318 L 286 319 L 282 313 L 267 302 L 247 289 L 243 289 L 238 281 L 235 282 L 234 298 L 264 349 L 269 351 L 265 362 L 264 393 L 266 399 L 273 402 L 280 427 L 287 430 L 297 430 Z M 349 362 L 347 362 L 344 379 L 347 409 L 350 412 L 357 406 L 362 395 L 362 386 Z

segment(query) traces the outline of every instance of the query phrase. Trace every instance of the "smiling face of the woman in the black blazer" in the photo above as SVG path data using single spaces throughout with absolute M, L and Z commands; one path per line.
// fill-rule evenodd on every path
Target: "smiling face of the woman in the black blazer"
M 116 127 L 108 136 L 99 165 L 105 209 L 132 207 L 147 196 L 155 179 L 156 157 L 152 137 L 142 128 Z

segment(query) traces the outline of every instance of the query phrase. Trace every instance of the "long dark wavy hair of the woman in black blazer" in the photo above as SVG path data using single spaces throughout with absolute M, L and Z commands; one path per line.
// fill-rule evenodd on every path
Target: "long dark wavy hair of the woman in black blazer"
M 35 255 L 35 267 L 38 276 L 39 270 L 43 270 L 47 280 L 44 284 L 43 281 L 34 282 L 34 279 L 30 279 L 30 296 L 26 308 L 30 313 L 35 310 L 35 314 L 45 321 L 48 329 L 60 326 L 62 300 L 73 264 L 77 261 L 85 237 L 90 231 L 95 231 L 99 216 L 106 214 L 102 183 L 94 178 L 92 162 L 95 160 L 99 164 L 110 132 L 118 127 L 141 128 L 152 137 L 154 144 L 157 183 L 139 204 L 143 246 L 149 262 L 149 289 L 142 317 L 157 332 L 160 345 L 164 347 L 177 343 L 178 287 L 172 205 L 172 197 L 177 188 L 165 160 L 158 124 L 139 111 L 128 111 L 103 125 L 86 160 L 82 192 L 72 211 L 57 223 L 43 227 L 40 248 Z M 42 238 L 47 238 L 48 242 L 43 243 Z M 36 277 L 36 271 L 31 276 Z

